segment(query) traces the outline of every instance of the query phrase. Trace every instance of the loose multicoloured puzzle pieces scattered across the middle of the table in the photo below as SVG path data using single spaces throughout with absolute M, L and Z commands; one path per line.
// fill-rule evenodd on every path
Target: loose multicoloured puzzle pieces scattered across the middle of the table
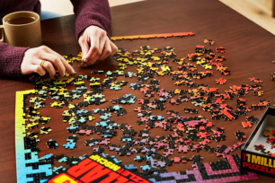
M 208 45 L 214 45 L 214 41 L 205 41 Z M 242 147 L 244 142 L 238 142 L 231 146 L 218 145 L 217 148 L 210 146 L 211 141 L 222 142 L 226 140 L 226 129 L 215 124 L 200 115 L 183 116 L 179 111 L 167 109 L 167 103 L 179 105 L 184 102 L 191 102 L 194 107 L 200 107 L 208 111 L 212 119 L 235 120 L 238 117 L 246 116 L 246 121 L 242 122 L 244 127 L 253 126 L 259 119 L 248 113 L 253 109 L 264 109 L 271 105 L 270 101 L 260 100 L 259 104 L 246 106 L 245 97 L 248 92 L 253 92 L 256 96 L 262 96 L 262 85 L 241 84 L 228 87 L 225 92 L 220 92 L 215 87 L 206 84 L 198 84 L 194 81 L 202 79 L 211 79 L 214 68 L 218 74 L 228 76 L 231 71 L 223 64 L 226 57 L 223 54 L 226 48 L 218 47 L 216 49 L 206 48 L 205 46 L 196 46 L 194 53 L 187 54 L 186 57 L 176 57 L 175 48 L 150 48 L 149 46 L 140 47 L 129 53 L 126 49 L 119 48 L 113 56 L 120 64 L 120 70 L 117 71 L 92 71 L 90 75 L 66 74 L 61 77 L 57 74 L 54 79 L 40 79 L 32 76 L 31 81 L 38 81 L 34 84 L 35 97 L 25 96 L 25 113 L 27 114 L 27 130 L 35 130 L 41 124 L 49 123 L 51 118 L 41 116 L 39 110 L 49 106 L 50 108 L 64 109 L 62 115 L 63 122 L 67 123 L 67 132 L 69 135 L 67 142 L 63 147 L 59 147 L 55 140 L 50 139 L 47 142 L 49 148 L 53 151 L 56 148 L 74 150 L 77 143 L 82 140 L 82 135 L 91 135 L 89 140 L 84 140 L 86 146 L 93 147 L 93 152 L 103 153 L 114 151 L 118 156 L 133 156 L 133 162 L 143 162 L 139 167 L 140 175 L 146 179 L 159 181 L 202 181 L 207 179 L 220 179 L 217 181 L 237 181 L 244 179 L 257 179 L 253 173 L 240 172 L 237 168 L 239 162 L 238 155 L 229 153 Z M 72 55 L 64 56 L 71 65 L 81 61 L 81 53 L 75 57 Z M 173 68 L 170 62 L 176 63 Z M 137 72 L 127 72 L 131 65 L 137 66 Z M 205 71 L 198 72 L 197 67 L 201 66 Z M 174 91 L 161 87 L 161 80 L 154 79 L 154 76 L 171 77 L 173 83 L 181 89 Z M 104 77 L 104 79 L 102 79 Z M 128 83 L 120 78 L 131 78 L 137 83 Z M 159 78 L 159 77 L 158 77 Z M 120 80 L 119 80 L 120 79 Z M 252 82 L 261 83 L 260 80 L 251 79 Z M 226 79 L 220 78 L 216 81 L 218 84 L 226 84 Z M 67 85 L 75 86 L 74 90 L 69 91 Z M 120 98 L 113 99 L 111 96 L 105 96 L 104 91 L 123 90 L 123 87 L 129 87 L 132 90 L 139 91 L 142 98 L 138 99 L 132 94 L 121 94 Z M 54 102 L 47 102 L 47 100 Z M 226 100 L 235 99 L 236 107 L 233 108 L 226 104 Z M 73 104 L 77 100 L 77 103 Z M 110 102 L 110 106 L 100 109 L 100 105 Z M 127 115 L 127 105 L 136 105 L 134 111 L 137 112 L 137 119 L 128 123 L 112 121 L 114 116 Z M 93 106 L 91 109 L 90 106 Z M 97 109 L 94 108 L 96 106 Z M 155 116 L 155 110 L 160 110 L 169 118 L 162 115 Z M 198 109 L 182 107 L 183 112 L 198 114 Z M 99 115 L 99 118 L 95 118 Z M 135 125 L 144 126 L 143 130 L 137 130 Z M 151 136 L 150 131 L 157 128 L 160 135 Z M 169 135 L 161 135 L 161 131 L 171 132 Z M 24 144 L 31 151 L 39 151 L 39 135 L 49 134 L 51 128 L 40 127 L 39 132 L 33 131 L 26 135 Z M 112 138 L 118 136 L 121 143 L 112 144 Z M 92 137 L 93 135 L 93 137 Z M 98 136 L 95 137 L 94 136 Z M 244 141 L 243 132 L 236 132 L 236 138 Z M 86 138 L 87 139 L 87 138 Z M 107 148 L 103 148 L 102 146 Z M 70 151 L 67 150 L 67 151 Z M 225 161 L 213 162 L 213 166 L 208 163 L 202 163 L 200 155 L 190 156 L 190 152 L 206 151 L 215 153 L 217 156 L 223 156 Z M 186 153 L 184 156 L 174 156 L 173 153 Z M 173 156 L 173 157 L 172 157 Z M 119 161 L 113 156 L 113 160 Z M 45 155 L 40 158 L 37 166 L 43 163 L 54 163 L 54 161 L 67 162 L 71 166 L 81 158 L 69 158 L 64 155 L 53 156 Z M 228 162 L 230 160 L 230 162 Z M 192 161 L 194 170 L 167 173 L 165 168 L 174 163 L 186 163 Z M 138 170 L 134 165 L 126 166 L 129 170 Z M 221 168 L 223 167 L 223 168 Z M 226 168 L 225 168 L 226 167 Z M 206 169 L 208 168 L 208 169 Z M 210 170 L 210 168 L 212 170 Z M 55 167 L 55 174 L 66 170 L 66 167 Z M 204 170 L 205 172 L 201 172 Z M 217 173 L 218 171 L 218 173 Z M 226 175 L 226 178 L 225 178 Z M 38 174 L 43 177 L 43 175 Z M 35 179 L 35 176 L 32 176 Z M 44 176 L 45 178 L 45 176 Z M 46 179 L 46 178 L 45 178 Z

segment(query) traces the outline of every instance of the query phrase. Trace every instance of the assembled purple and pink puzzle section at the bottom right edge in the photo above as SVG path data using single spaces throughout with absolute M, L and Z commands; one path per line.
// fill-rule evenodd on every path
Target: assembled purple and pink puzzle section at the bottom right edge
M 236 182 L 258 179 L 256 173 L 240 171 L 240 157 L 238 154 L 226 155 L 225 160 L 213 162 L 193 161 L 193 170 L 161 173 L 158 179 L 149 179 L 152 182 Z

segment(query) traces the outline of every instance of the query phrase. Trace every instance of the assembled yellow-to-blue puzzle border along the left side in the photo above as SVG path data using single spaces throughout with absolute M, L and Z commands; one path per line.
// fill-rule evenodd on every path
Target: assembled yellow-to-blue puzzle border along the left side
M 40 163 L 35 138 L 26 136 L 25 126 L 25 95 L 35 93 L 35 90 L 16 92 L 15 105 L 15 152 L 17 182 L 34 182 L 35 175 L 43 175 L 40 183 L 46 182 L 52 175 L 50 163 Z M 31 176 L 33 175 L 33 176 Z

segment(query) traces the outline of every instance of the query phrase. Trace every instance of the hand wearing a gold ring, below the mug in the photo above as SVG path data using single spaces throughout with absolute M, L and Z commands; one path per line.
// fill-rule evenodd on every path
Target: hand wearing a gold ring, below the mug
M 45 60 L 43 66 L 40 66 L 42 60 Z M 54 77 L 58 70 L 59 75 L 64 76 L 65 71 L 70 74 L 74 74 L 74 68 L 69 65 L 66 59 L 60 56 L 52 49 L 41 46 L 38 48 L 28 49 L 22 59 L 21 74 L 37 73 L 42 75 L 49 73 L 49 77 Z

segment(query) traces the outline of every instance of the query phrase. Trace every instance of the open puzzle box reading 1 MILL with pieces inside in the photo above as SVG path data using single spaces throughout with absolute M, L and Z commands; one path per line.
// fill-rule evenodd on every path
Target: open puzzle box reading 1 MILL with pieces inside
M 242 134 L 240 134 L 242 135 Z M 241 151 L 241 170 L 274 177 L 275 109 L 268 108 Z

